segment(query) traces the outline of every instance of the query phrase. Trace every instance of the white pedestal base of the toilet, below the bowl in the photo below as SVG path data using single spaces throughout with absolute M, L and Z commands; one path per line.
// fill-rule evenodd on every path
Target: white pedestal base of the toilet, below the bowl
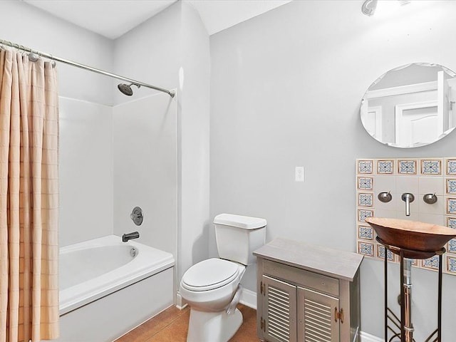
M 187 342 L 227 342 L 242 324 L 241 311 L 234 314 L 190 309 Z

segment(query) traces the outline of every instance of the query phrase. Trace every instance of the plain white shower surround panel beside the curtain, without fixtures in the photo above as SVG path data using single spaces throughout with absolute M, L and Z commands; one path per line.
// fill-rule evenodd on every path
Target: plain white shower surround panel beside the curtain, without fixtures
M 61 247 L 113 234 L 113 108 L 59 98 Z

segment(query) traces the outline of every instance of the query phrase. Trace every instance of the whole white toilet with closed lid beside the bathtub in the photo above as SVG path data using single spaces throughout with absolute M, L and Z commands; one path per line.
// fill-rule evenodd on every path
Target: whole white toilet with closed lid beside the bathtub
M 219 258 L 191 266 L 180 281 L 190 305 L 187 342 L 227 342 L 236 333 L 242 324 L 239 282 L 266 237 L 266 219 L 257 217 L 219 214 L 214 227 Z

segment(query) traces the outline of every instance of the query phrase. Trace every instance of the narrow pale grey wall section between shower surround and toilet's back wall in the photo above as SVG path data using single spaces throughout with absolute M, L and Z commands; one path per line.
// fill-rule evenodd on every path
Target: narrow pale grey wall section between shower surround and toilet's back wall
M 182 3 L 180 70 L 180 257 L 178 279 L 208 257 L 209 36 L 197 11 Z

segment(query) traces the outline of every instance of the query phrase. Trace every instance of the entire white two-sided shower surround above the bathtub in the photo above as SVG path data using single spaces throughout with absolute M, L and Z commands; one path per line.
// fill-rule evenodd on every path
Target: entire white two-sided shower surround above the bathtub
M 155 94 L 108 106 L 60 98 L 60 245 L 138 230 L 174 253 L 177 101 Z M 130 219 L 135 206 L 145 219 Z

